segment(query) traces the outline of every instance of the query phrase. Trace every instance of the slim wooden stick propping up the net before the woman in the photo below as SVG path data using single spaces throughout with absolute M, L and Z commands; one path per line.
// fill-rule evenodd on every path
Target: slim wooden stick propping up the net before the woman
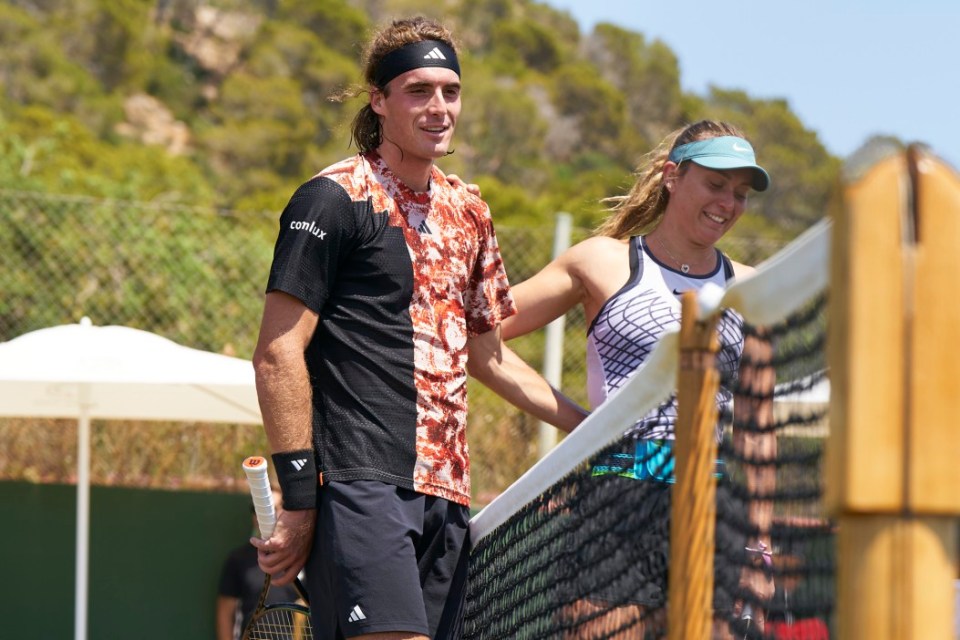
M 700 319 L 692 291 L 681 305 L 667 637 L 707 640 L 713 619 L 718 316 Z

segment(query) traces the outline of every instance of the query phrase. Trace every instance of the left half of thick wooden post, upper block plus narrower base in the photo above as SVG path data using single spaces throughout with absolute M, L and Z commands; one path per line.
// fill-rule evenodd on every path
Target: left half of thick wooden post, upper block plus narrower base
M 834 212 L 826 506 L 838 523 L 840 638 L 909 637 L 898 635 L 903 603 L 892 585 L 902 547 L 908 186 L 904 158 L 892 156 L 847 185 Z

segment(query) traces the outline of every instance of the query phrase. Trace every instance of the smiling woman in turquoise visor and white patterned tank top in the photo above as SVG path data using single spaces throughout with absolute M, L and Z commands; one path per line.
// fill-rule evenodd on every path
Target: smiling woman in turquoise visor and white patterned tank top
M 644 159 L 630 191 L 608 199 L 612 203 L 611 215 L 593 237 L 574 245 L 536 275 L 514 286 L 518 313 L 504 321 L 504 339 L 544 327 L 581 306 L 589 327 L 588 396 L 591 407 L 596 408 L 643 365 L 666 330 L 679 326 L 679 298 L 684 292 L 699 290 L 707 283 L 724 287 L 734 277 L 752 271 L 730 260 L 716 245 L 740 219 L 749 193 L 765 190 L 769 182 L 767 172 L 756 163 L 753 147 L 735 126 L 703 120 L 673 132 Z M 721 350 L 717 362 L 726 376 L 737 371 L 745 350 L 755 355 L 768 350 L 769 345 L 762 340 L 744 339 L 741 319 L 735 313 L 724 312 L 718 333 Z M 751 378 L 752 382 L 744 381 L 758 392 L 772 389 L 772 371 L 740 374 L 741 379 Z M 731 399 L 727 390 L 721 390 L 717 396 L 721 406 Z M 761 425 L 769 424 L 771 406 L 768 399 L 759 397 L 734 403 L 737 411 L 753 412 L 756 423 Z M 675 421 L 675 401 L 665 410 L 652 411 L 630 431 L 635 449 L 613 454 L 611 460 L 616 460 L 595 468 L 594 475 L 611 473 L 650 483 L 649 495 L 662 494 L 656 499 L 658 512 L 669 513 L 672 466 L 649 469 L 651 465 L 643 462 L 663 459 L 661 454 L 669 451 L 673 441 Z M 722 435 L 718 429 L 718 440 Z M 775 455 L 772 434 L 740 432 L 734 438 L 735 446 L 748 458 Z M 621 464 L 627 459 L 628 463 Z M 754 469 L 749 488 L 762 491 L 771 488 L 773 482 L 772 468 Z M 721 482 L 721 505 L 729 498 L 725 493 Z M 741 553 L 747 547 L 768 549 L 772 506 L 753 501 L 742 509 L 749 510 L 755 535 L 738 542 Z M 669 530 L 665 523 L 662 527 L 651 524 L 646 531 L 628 533 L 649 537 L 644 538 L 644 544 L 662 550 L 662 556 L 652 560 L 651 566 L 666 566 Z M 718 523 L 719 535 L 722 532 Z M 646 569 L 637 571 L 643 573 Z M 652 618 L 645 615 L 645 608 L 662 609 L 667 589 L 662 571 L 651 569 L 648 573 L 640 580 L 624 581 L 620 589 L 596 594 L 595 602 L 629 603 L 626 606 L 614 607 L 601 615 L 599 607 L 585 599 L 577 603 L 580 610 L 572 613 L 581 619 L 595 615 L 592 626 L 601 632 L 629 627 L 613 637 L 643 637 L 645 624 L 663 622 L 650 622 Z M 734 609 L 742 606 L 735 603 L 741 589 L 749 588 L 761 600 L 769 598 L 773 590 L 769 576 L 753 569 L 737 570 L 732 577 L 718 575 L 716 585 L 715 637 L 724 637 L 728 633 L 727 620 L 740 615 Z M 584 632 L 583 627 L 576 631 Z

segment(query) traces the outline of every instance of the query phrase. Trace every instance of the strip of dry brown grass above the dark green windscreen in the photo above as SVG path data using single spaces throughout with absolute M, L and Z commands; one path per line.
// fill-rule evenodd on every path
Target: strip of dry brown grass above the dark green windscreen
M 492 396 L 486 389 L 472 393 L 475 401 L 485 393 Z M 475 507 L 487 504 L 536 461 L 537 429 L 537 421 L 520 412 L 471 415 Z M 245 492 L 240 463 L 268 450 L 258 425 L 94 420 L 90 482 Z M 76 420 L 0 419 L 0 480 L 72 484 L 76 479 Z

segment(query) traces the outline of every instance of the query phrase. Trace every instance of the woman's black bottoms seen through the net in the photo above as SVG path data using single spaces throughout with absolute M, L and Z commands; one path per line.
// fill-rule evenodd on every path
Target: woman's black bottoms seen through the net
M 578 576 L 569 600 L 588 599 L 610 606 L 638 604 L 659 608 L 667 600 L 670 560 L 670 506 L 673 485 L 653 479 L 594 476 L 576 505 L 578 519 L 569 555 Z M 739 593 L 747 536 L 728 523 L 746 520 L 746 505 L 729 484 L 717 485 L 716 554 L 713 607 L 733 610 Z M 732 518 L 731 518 L 732 516 Z

